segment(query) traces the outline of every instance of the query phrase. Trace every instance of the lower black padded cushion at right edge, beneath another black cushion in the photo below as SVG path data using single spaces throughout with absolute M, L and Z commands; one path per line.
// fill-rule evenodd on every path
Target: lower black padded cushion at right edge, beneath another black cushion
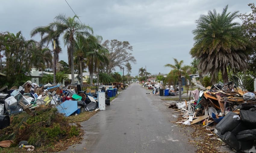
M 236 135 L 236 139 L 239 141 L 254 141 L 256 140 L 256 129 L 240 131 Z

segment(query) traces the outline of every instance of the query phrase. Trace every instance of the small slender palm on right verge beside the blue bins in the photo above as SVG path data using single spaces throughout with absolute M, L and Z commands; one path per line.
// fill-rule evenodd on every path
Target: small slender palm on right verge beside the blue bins
M 173 58 L 174 65 L 173 64 L 165 64 L 164 67 L 171 67 L 173 69 L 173 73 L 178 76 L 178 82 L 179 82 L 179 99 L 181 100 L 181 76 L 187 76 L 187 70 L 189 70 L 190 66 L 184 65 L 183 66 L 183 60 L 178 61 L 176 58 Z

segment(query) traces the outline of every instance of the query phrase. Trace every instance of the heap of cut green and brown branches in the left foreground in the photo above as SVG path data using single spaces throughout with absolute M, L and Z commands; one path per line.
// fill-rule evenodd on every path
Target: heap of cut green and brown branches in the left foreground
M 80 127 L 70 125 L 67 117 L 56 108 L 39 107 L 34 113 L 34 116 L 27 113 L 12 115 L 11 126 L 0 131 L 0 140 L 13 140 L 14 146 L 23 140 L 33 146 L 48 146 L 79 135 Z

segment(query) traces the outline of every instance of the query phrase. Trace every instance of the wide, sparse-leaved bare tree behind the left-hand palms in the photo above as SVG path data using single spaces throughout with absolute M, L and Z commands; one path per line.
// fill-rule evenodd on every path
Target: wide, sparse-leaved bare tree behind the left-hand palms
M 104 72 L 110 74 L 116 67 L 122 69 L 127 62 L 136 63 L 136 59 L 132 55 L 133 46 L 128 41 L 106 40 L 103 44 L 109 53 L 106 55 L 109 59 L 109 64 L 105 66 Z

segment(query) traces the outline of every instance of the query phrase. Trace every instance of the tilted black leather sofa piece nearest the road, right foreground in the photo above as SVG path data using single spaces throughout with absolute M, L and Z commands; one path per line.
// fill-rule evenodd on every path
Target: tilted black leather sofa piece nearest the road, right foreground
M 215 127 L 215 129 L 220 132 L 220 134 L 224 134 L 227 131 L 233 131 L 236 126 L 241 122 L 240 120 L 233 119 L 233 116 L 237 115 L 236 113 L 229 112 Z

